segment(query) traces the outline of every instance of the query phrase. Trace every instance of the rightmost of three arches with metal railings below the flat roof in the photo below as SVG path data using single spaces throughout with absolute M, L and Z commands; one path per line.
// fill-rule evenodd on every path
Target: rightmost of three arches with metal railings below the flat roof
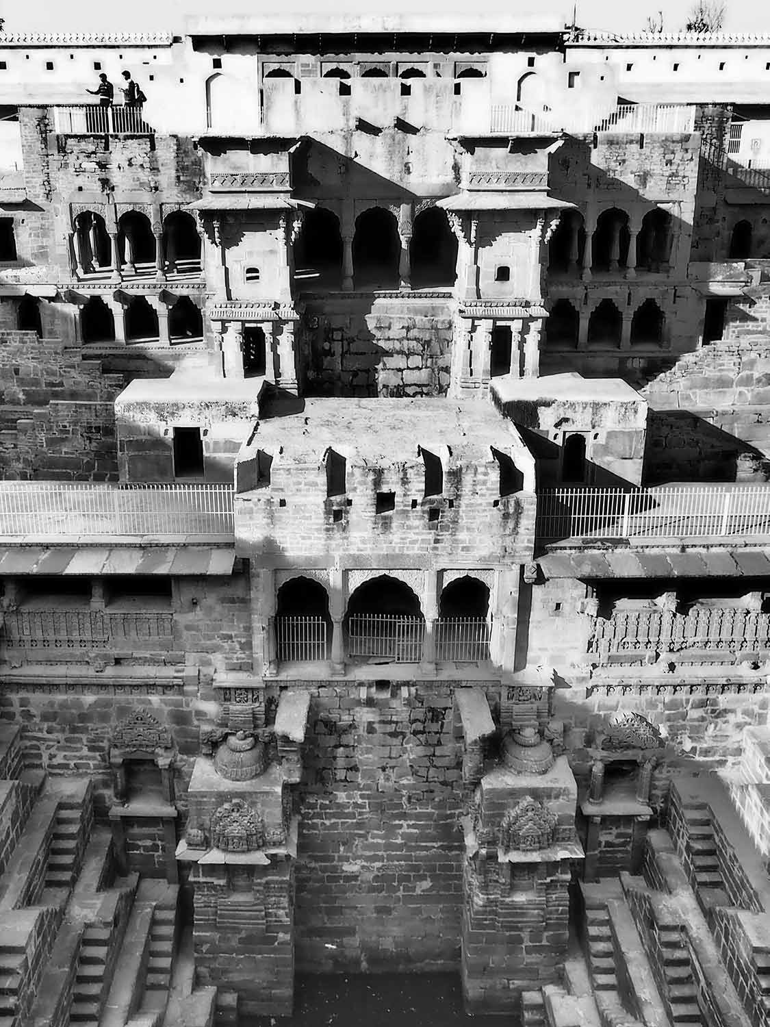
M 490 589 L 465 575 L 442 589 L 436 622 L 436 658 L 469 663 L 490 656 Z

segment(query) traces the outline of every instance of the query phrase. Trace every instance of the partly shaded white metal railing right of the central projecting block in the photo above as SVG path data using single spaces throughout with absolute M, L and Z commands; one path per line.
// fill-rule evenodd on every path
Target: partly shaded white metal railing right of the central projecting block
M 536 534 L 560 538 L 692 538 L 770 534 L 770 486 L 550 489 Z

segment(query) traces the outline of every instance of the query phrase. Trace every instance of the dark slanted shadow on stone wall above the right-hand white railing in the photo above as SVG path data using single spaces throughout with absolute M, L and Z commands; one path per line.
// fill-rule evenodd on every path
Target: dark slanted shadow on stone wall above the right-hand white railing
M 686 411 L 649 412 L 644 466 L 645 485 L 770 481 L 760 450 Z

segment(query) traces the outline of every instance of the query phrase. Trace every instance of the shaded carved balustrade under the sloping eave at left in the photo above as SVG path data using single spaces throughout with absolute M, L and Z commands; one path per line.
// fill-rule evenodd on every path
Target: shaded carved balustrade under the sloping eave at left
M 174 635 L 171 613 L 102 610 L 7 610 L 0 639 L 10 649 L 68 650 L 141 647 Z

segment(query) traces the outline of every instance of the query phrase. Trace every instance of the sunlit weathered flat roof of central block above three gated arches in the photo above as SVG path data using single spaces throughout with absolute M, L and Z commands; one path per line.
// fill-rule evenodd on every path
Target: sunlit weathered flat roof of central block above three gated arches
M 462 449 L 462 461 L 490 459 L 490 447 L 529 451 L 510 421 L 490 404 L 446 398 L 309 398 L 296 414 L 261 419 L 248 449 L 283 449 L 283 459 L 320 460 L 331 447 L 344 456 L 389 464 L 415 460 L 418 446 Z M 523 467 L 521 469 L 524 469 Z

